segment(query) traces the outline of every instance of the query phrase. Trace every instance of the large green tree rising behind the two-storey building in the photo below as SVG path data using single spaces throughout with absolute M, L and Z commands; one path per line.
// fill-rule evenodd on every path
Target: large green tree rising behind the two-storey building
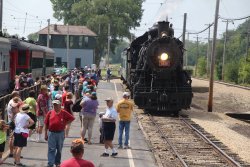
M 85 25 L 98 34 L 96 55 L 106 54 L 108 24 L 110 49 L 122 38 L 130 37 L 129 30 L 140 25 L 144 0 L 51 0 L 54 16 L 64 23 Z

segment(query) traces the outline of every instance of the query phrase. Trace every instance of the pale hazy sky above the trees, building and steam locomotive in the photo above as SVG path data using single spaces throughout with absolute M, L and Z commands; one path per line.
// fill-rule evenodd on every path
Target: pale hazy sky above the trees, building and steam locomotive
M 10 34 L 27 36 L 47 26 L 47 19 L 52 24 L 62 24 L 53 18 L 50 0 L 3 0 L 3 28 Z M 143 17 L 141 26 L 132 32 L 139 36 L 150 28 L 153 23 L 164 20 L 168 15 L 169 21 L 175 28 L 175 36 L 182 33 L 183 15 L 187 13 L 187 30 L 197 32 L 206 28 L 205 24 L 214 21 L 216 0 L 146 0 L 143 4 Z M 250 15 L 250 0 L 221 0 L 220 16 L 239 18 Z M 26 26 L 25 26 L 25 18 Z M 243 20 L 245 21 L 245 20 Z M 243 21 L 229 24 L 229 29 L 237 28 Z M 219 20 L 218 37 L 225 31 L 226 24 Z M 200 34 L 205 40 L 208 31 Z M 190 36 L 194 40 L 195 35 Z

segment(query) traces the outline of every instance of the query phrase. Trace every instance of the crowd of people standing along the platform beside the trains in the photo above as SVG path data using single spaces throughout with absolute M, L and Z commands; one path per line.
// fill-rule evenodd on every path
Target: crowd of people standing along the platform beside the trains
M 15 166 L 23 166 L 21 152 L 27 142 L 48 143 L 48 166 L 68 167 L 70 164 L 77 166 L 94 166 L 92 162 L 83 160 L 84 143 L 92 144 L 93 125 L 99 106 L 96 93 L 99 72 L 83 72 L 74 69 L 66 78 L 57 75 L 49 75 L 46 78 L 28 79 L 32 76 L 21 73 L 16 77 L 15 90 L 11 94 L 11 100 L 7 106 L 8 123 L 0 120 L 0 158 L 4 152 L 6 132 L 10 130 L 9 157 L 14 158 Z M 28 84 L 19 84 L 20 80 Z M 29 97 L 21 99 L 19 90 L 24 85 L 32 86 L 41 84 L 39 95 L 36 97 L 34 90 L 29 91 Z M 21 86 L 22 85 L 22 86 Z M 76 102 L 79 101 L 78 104 Z M 112 141 L 114 139 L 116 120 L 119 116 L 119 147 L 123 148 L 122 134 L 125 129 L 124 148 L 129 148 L 129 127 L 133 103 L 129 101 L 129 93 L 123 93 L 116 107 L 112 98 L 105 99 L 106 112 L 99 113 L 100 143 L 104 143 L 104 152 L 101 156 L 117 156 L 118 152 Z M 77 107 L 78 105 L 78 107 Z M 64 139 L 69 137 L 72 121 L 75 120 L 74 112 L 79 113 L 81 121 L 81 136 L 72 142 L 71 153 L 73 158 L 61 162 L 61 153 Z M 42 136 L 44 134 L 44 136 Z M 87 137 L 86 137 L 87 134 Z M 0 161 L 0 164 L 4 160 Z

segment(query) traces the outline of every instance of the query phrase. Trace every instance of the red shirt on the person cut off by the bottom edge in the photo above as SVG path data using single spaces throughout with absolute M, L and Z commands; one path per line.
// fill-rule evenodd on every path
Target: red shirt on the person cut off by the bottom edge
M 70 158 L 61 163 L 60 167 L 95 167 L 94 164 L 90 161 L 78 158 Z

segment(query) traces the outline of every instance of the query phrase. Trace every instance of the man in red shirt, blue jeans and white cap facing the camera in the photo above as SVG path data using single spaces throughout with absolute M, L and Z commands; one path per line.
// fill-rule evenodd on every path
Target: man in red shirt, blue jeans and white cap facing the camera
M 48 140 L 48 166 L 60 166 L 61 153 L 65 136 L 65 127 L 75 118 L 61 108 L 61 101 L 52 101 L 54 109 L 46 115 L 45 140 Z

